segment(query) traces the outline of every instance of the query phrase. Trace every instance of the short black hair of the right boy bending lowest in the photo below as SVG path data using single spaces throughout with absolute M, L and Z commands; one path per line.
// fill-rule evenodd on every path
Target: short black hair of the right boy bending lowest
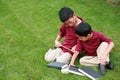
M 86 22 L 80 23 L 75 29 L 75 33 L 79 36 L 85 36 L 86 37 L 88 34 L 91 34 L 91 32 L 92 32 L 92 28 Z

